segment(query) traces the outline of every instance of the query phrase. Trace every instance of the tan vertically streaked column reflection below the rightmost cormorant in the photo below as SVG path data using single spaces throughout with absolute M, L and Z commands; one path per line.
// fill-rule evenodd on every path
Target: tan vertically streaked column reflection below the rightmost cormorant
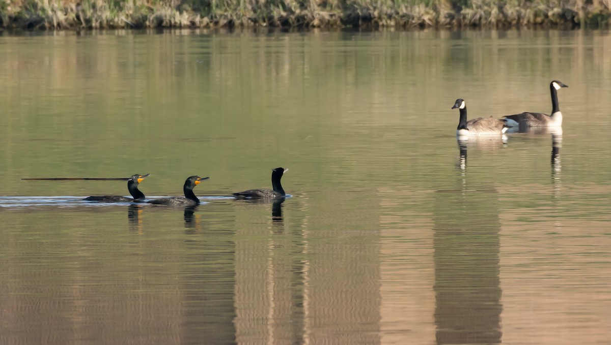
M 284 202 L 284 198 L 236 201 L 247 210 L 266 213 L 262 227 L 252 224 L 244 229 L 265 234 L 265 243 L 243 241 L 238 251 L 235 323 L 240 343 L 304 344 L 311 336 L 306 321 L 307 316 L 312 317 L 307 241 L 303 227 L 285 224 Z

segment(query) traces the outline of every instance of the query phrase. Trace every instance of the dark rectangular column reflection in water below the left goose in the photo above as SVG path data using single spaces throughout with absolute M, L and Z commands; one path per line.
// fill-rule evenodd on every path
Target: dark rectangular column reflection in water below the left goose
M 437 344 L 501 343 L 499 210 L 496 189 L 435 193 Z

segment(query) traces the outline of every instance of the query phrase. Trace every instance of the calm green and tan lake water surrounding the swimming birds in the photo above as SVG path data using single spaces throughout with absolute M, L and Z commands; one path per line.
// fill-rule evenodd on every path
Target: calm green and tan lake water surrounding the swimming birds
M 4 34 L 0 70 L 1 344 L 609 344 L 609 31 Z M 457 143 L 457 98 L 552 79 L 562 135 Z M 145 173 L 206 203 L 21 180 Z

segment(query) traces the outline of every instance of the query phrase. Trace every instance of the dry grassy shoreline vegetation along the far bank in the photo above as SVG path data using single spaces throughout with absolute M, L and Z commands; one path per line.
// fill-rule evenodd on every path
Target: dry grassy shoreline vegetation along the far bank
M 0 0 L 0 28 L 609 27 L 611 0 Z

